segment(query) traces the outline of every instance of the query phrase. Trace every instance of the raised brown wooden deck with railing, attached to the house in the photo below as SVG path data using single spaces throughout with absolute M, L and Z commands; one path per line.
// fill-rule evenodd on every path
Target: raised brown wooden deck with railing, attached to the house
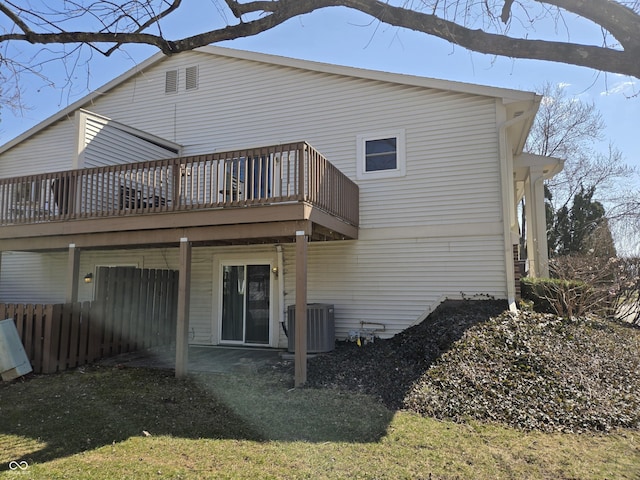
M 0 179 L 0 251 L 357 238 L 358 187 L 306 142 Z

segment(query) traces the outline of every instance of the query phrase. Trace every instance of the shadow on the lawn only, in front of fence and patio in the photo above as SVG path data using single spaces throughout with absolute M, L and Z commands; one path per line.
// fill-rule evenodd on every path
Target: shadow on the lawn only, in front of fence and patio
M 0 471 L 11 462 L 43 463 L 147 434 L 371 442 L 391 418 L 363 396 L 293 390 L 271 372 L 176 379 L 168 370 L 89 367 L 0 384 L 0 445 L 30 446 L 0 448 Z

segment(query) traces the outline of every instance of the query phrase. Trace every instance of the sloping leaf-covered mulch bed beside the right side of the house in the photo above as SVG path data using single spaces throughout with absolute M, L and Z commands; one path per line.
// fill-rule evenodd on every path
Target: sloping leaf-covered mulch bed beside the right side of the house
M 506 307 L 449 300 L 393 338 L 338 342 L 309 359 L 307 384 L 456 422 L 571 433 L 640 429 L 640 328 L 589 316 L 514 315 Z

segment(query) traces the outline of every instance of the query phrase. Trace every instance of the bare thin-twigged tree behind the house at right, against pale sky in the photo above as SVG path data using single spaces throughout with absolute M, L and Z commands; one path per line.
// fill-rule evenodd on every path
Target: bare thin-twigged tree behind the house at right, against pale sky
M 569 97 L 562 85 L 545 84 L 540 91 L 543 100 L 526 148 L 565 160 L 563 171 L 546 184 L 547 215 L 568 210 L 581 192 L 592 191 L 594 200 L 606 208 L 621 253 L 632 253 L 633 239 L 640 237 L 640 193 L 634 187 L 638 172 L 614 145 L 606 152 L 595 148 L 603 139 L 605 124 L 593 103 Z

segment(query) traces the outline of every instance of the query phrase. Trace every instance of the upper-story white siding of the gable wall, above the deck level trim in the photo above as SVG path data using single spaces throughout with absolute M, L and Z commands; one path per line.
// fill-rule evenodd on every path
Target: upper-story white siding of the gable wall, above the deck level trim
M 307 140 L 353 179 L 358 135 L 402 129 L 406 176 L 361 185 L 362 228 L 501 218 L 494 98 L 198 52 L 169 58 L 146 82 L 196 62 L 197 91 L 166 97 L 129 82 L 92 110 L 180 143 L 185 155 Z

